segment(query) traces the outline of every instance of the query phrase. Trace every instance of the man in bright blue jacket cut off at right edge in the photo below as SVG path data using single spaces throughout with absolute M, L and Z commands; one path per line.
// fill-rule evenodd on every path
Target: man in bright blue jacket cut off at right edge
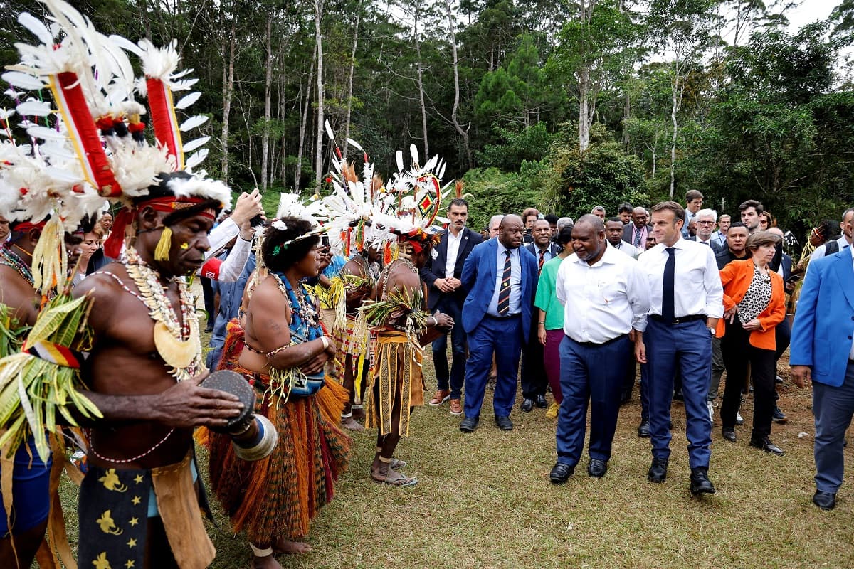
M 810 263 L 792 329 L 792 379 L 813 384 L 816 494 L 823 510 L 836 505 L 845 473 L 845 429 L 854 416 L 854 247 Z

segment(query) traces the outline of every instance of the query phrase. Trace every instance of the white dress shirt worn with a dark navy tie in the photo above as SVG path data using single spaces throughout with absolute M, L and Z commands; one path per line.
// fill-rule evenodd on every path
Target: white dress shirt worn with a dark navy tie
M 711 318 L 723 316 L 723 287 L 721 273 L 717 270 L 715 253 L 711 247 L 680 239 L 673 245 L 676 248 L 675 275 L 673 279 L 673 316 L 694 316 L 705 314 Z M 668 253 L 664 243 L 658 243 L 652 249 L 640 254 L 638 261 L 646 274 L 650 292 L 651 315 L 661 316 L 661 297 L 664 293 L 664 264 Z M 646 317 L 639 322 L 646 330 Z

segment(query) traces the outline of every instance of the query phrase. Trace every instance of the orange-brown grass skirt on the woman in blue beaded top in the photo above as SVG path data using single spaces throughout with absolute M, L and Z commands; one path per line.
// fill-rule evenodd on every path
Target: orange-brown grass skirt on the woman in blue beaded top
M 220 369 L 243 374 L 262 390 L 269 380 L 237 364 L 243 351 L 243 329 L 232 321 Z M 260 398 L 259 398 L 260 399 Z M 233 531 L 246 531 L 252 543 L 274 543 L 308 534 L 308 525 L 334 494 L 335 482 L 346 469 L 351 440 L 338 421 L 348 393 L 335 381 L 314 396 L 264 398 L 255 412 L 278 430 L 278 446 L 258 462 L 237 458 L 231 438 L 210 433 L 210 480 L 214 494 L 231 518 Z

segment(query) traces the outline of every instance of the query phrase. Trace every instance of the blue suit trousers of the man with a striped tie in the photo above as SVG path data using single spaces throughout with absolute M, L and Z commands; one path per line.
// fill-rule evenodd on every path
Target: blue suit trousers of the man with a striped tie
M 527 324 L 525 324 L 527 325 Z M 483 316 L 483 320 L 468 335 L 469 359 L 465 362 L 465 416 L 480 416 L 483 393 L 492 355 L 495 354 L 495 379 L 493 409 L 495 415 L 509 416 L 516 401 L 516 378 L 519 357 L 522 355 L 522 316 L 495 318 Z M 454 327 L 456 328 L 456 327 Z

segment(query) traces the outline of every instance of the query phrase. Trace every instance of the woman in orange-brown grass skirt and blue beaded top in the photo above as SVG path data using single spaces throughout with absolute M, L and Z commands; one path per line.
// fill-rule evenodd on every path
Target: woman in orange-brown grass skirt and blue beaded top
M 302 282 L 318 276 L 319 241 L 300 218 L 281 218 L 266 229 L 259 269 L 243 295 L 243 327 L 229 324 L 223 348 L 220 369 L 249 380 L 259 396 L 255 413 L 278 431 L 278 447 L 258 462 L 240 460 L 228 437 L 211 440 L 213 491 L 232 530 L 246 531 L 254 567 L 277 568 L 274 554 L 310 551 L 293 540 L 307 535 L 347 466 L 350 439 L 338 426 L 347 392 L 323 373 L 336 347 L 320 326 L 317 298 Z

